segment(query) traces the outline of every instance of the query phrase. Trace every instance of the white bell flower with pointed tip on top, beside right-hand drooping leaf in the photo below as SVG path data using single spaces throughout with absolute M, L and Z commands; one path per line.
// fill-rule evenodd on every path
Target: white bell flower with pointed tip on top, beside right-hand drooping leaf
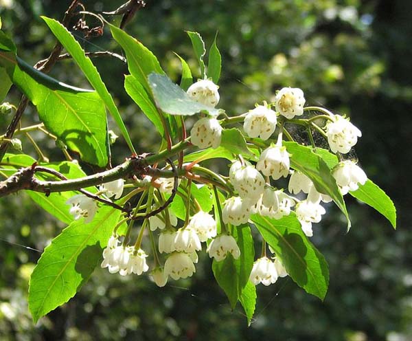
M 275 146 L 266 148 L 260 155 L 256 169 L 264 175 L 273 177 L 274 180 L 280 177 L 287 177 L 289 174 L 290 160 L 286 147 L 282 146 L 282 140 L 278 140 Z

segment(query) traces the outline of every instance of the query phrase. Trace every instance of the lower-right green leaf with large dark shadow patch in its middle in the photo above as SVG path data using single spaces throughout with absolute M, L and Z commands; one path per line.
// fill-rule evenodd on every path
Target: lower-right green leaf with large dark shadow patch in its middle
M 275 250 L 293 281 L 308 294 L 323 300 L 329 285 L 328 263 L 310 243 L 295 214 L 279 220 L 254 214 L 251 220 Z

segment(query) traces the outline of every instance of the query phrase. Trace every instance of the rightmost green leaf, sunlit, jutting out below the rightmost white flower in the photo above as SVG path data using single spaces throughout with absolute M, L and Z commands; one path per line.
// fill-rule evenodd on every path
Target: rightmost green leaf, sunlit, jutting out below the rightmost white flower
M 395 205 L 393 205 L 391 198 L 389 198 L 378 185 L 368 179 L 364 185 L 359 185 L 358 190 L 350 192 L 350 195 L 367 203 L 369 206 L 380 212 L 380 214 L 389 220 L 393 228 L 396 229 Z

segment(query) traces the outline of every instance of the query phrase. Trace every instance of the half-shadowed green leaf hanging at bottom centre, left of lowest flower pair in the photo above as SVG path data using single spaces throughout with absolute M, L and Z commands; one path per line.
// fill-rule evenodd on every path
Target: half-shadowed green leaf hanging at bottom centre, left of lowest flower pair
M 229 254 L 223 261 L 212 263 L 212 270 L 218 285 L 223 289 L 232 309 L 246 287 L 253 267 L 255 250 L 251 229 L 247 225 L 233 227 L 233 237 L 236 239 L 240 249 L 239 259 L 233 259 Z

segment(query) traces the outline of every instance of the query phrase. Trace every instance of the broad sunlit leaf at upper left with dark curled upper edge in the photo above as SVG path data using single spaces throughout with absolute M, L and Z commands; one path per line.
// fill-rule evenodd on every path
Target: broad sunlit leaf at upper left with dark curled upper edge
M 0 65 L 5 67 L 12 82 L 36 106 L 41 121 L 50 133 L 79 153 L 84 162 L 106 166 L 106 112 L 98 94 L 63 85 L 21 61 L 14 52 L 0 52 Z M 28 73 L 25 70 L 32 71 Z

